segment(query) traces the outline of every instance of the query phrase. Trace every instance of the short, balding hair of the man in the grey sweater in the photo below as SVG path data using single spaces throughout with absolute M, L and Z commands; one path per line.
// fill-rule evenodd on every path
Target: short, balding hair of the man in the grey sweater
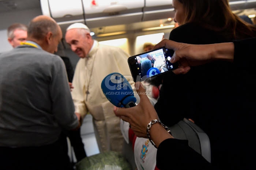
M 52 32 L 53 36 L 59 34 L 59 28 L 56 22 L 53 20 L 41 19 L 36 21 L 30 21 L 28 29 L 27 29 L 27 36 L 33 37 L 34 39 L 40 40 L 44 38 L 44 36 L 48 32 Z

